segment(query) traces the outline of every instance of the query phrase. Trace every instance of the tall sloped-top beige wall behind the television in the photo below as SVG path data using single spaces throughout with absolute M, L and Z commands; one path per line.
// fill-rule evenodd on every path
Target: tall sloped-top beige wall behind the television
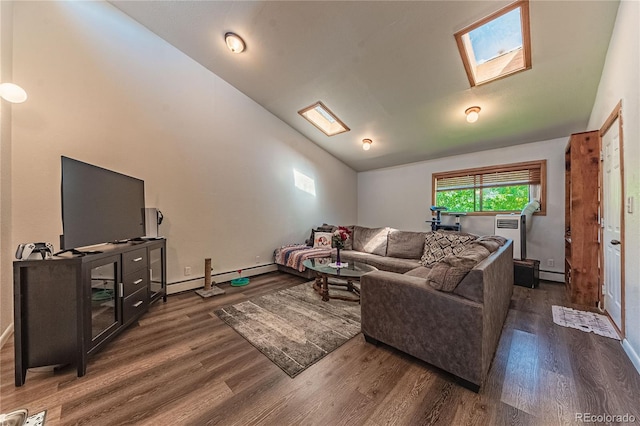
M 186 266 L 202 276 L 207 257 L 214 273 L 267 264 L 312 226 L 355 222 L 355 171 L 110 4 L 14 11 L 14 77 L 30 97 L 13 111 L 13 246 L 58 248 L 61 155 L 145 181 L 170 283 L 193 278 Z

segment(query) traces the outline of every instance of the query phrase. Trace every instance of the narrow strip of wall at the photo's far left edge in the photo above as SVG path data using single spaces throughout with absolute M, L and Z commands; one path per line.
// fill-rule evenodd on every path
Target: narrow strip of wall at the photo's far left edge
M 0 2 L 0 82 L 12 82 L 13 2 Z M 20 108 L 21 105 L 16 105 Z M 11 266 L 11 109 L 0 101 L 0 347 L 10 336 L 13 321 L 13 272 Z

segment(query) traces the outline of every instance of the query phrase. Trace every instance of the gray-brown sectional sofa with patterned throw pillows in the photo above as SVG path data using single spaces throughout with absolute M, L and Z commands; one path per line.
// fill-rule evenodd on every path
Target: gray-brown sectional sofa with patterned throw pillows
M 362 333 L 445 370 L 478 391 L 513 292 L 511 240 L 456 232 L 350 227 L 343 262 L 361 278 Z

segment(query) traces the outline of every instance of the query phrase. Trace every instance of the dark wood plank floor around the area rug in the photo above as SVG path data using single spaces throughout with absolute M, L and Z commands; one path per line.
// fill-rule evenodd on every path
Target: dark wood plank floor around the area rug
M 554 325 L 564 286 L 516 287 L 479 394 L 446 373 L 358 335 L 295 379 L 212 312 L 305 282 L 274 272 L 227 294 L 155 304 L 87 375 L 29 372 L 13 385 L 13 344 L 0 351 L 0 412 L 47 410 L 47 424 L 426 425 L 577 424 L 576 413 L 640 422 L 640 376 L 619 342 Z

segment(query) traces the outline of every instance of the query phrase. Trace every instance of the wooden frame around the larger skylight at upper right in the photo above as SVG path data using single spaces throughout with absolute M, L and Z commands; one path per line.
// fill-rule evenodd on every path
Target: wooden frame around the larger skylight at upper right
M 520 8 L 520 24 L 521 24 L 521 32 L 522 32 L 522 57 L 524 61 L 524 66 L 522 68 L 517 68 L 513 71 L 505 72 L 498 74 L 493 78 L 489 78 L 483 81 L 476 81 L 475 72 L 473 70 L 473 66 L 470 63 L 469 55 L 467 52 L 467 48 L 465 46 L 464 36 L 469 34 L 471 31 L 482 27 L 483 25 Z M 458 46 L 458 51 L 460 52 L 460 57 L 462 58 L 462 63 L 464 65 L 464 70 L 467 73 L 467 78 L 469 79 L 469 84 L 471 87 L 481 86 L 483 84 L 491 83 L 492 81 L 500 80 L 502 78 L 508 77 L 513 74 L 517 74 L 522 71 L 526 71 L 531 69 L 531 21 L 529 19 L 529 0 L 517 0 L 502 9 L 490 14 L 489 16 L 480 19 L 479 21 L 461 29 L 456 32 L 454 35 L 456 40 L 456 44 Z M 473 53 L 473 52 L 471 52 Z M 475 62 L 475 61 L 474 61 Z

